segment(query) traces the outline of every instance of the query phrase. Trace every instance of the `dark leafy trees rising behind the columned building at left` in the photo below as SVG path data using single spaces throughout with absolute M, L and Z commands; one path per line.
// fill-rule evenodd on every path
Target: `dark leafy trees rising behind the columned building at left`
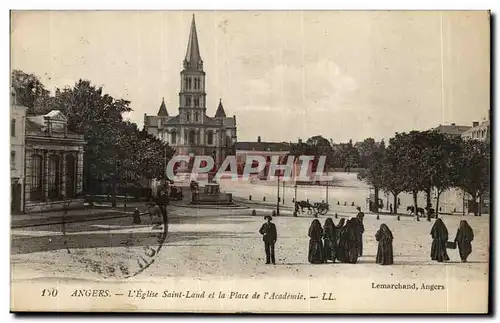
M 52 96 L 37 76 L 19 70 L 12 73 L 12 85 L 18 104 L 28 107 L 29 115 L 60 110 L 68 118 L 68 130 L 84 134 L 86 192 L 92 193 L 96 184 L 111 183 L 115 201 L 118 183 L 140 186 L 141 180 L 165 177 L 165 158 L 174 151 L 123 119 L 124 113 L 132 111 L 130 101 L 115 99 L 86 80 L 56 89 Z

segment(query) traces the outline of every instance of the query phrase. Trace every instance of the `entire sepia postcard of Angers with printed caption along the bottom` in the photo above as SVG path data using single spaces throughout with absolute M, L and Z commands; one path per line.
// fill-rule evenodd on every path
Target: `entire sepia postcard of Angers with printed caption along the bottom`
M 488 312 L 490 12 L 10 18 L 11 311 Z

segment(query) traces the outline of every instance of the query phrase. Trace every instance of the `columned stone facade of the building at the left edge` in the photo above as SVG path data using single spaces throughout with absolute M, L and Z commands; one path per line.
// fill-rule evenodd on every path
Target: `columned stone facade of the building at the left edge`
M 83 135 L 67 131 L 57 110 L 26 119 L 24 211 L 62 209 L 79 198 L 83 183 Z

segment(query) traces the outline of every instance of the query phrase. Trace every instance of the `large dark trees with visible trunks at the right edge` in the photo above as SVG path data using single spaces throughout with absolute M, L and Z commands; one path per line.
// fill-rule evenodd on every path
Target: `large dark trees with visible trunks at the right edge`
M 480 215 L 482 198 L 490 186 L 490 146 L 487 142 L 463 140 L 460 136 L 436 131 L 397 133 L 389 140 L 387 148 L 374 153 L 370 166 L 360 178 L 376 191 L 391 193 L 394 212 L 397 212 L 397 197 L 402 192 L 413 195 L 415 210 L 418 193 L 425 192 L 426 209 L 430 212 L 434 190 L 438 214 L 441 194 L 455 187 L 471 196 L 474 214 Z

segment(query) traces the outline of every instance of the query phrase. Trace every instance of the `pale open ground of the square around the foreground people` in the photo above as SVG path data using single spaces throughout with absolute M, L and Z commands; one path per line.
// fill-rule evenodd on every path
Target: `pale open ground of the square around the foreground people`
M 255 209 L 257 216 L 251 215 Z M 340 217 L 354 216 L 352 212 Z M 451 261 L 438 264 L 430 260 L 432 223 L 412 217 L 375 215 L 365 217 L 364 256 L 358 264 L 310 265 L 307 262 L 308 228 L 311 216 L 292 217 L 291 211 L 275 217 L 278 228 L 277 265 L 264 265 L 263 242 L 258 230 L 263 216 L 271 210 L 169 208 L 168 236 L 154 263 L 144 270 L 144 277 L 297 277 L 314 278 L 325 274 L 350 278 L 370 275 L 380 277 L 444 277 L 453 268 L 453 279 L 485 280 L 488 275 L 489 216 L 462 217 L 444 215 L 450 240 L 461 219 L 474 229 L 475 240 L 469 263 L 459 262 L 457 250 L 450 250 Z M 320 216 L 324 222 L 327 216 Z M 12 229 L 11 262 L 13 279 L 36 277 L 123 278 L 120 267 L 138 271 L 137 259 L 146 247 L 157 247 L 158 231 L 148 224 L 132 224 L 132 218 L 114 218 Z M 339 219 L 334 219 L 338 223 Z M 433 220 L 434 221 L 434 220 Z M 375 233 L 386 223 L 394 234 L 395 265 L 375 264 Z M 69 250 L 69 251 L 68 251 Z M 138 275 L 137 277 L 141 276 Z

